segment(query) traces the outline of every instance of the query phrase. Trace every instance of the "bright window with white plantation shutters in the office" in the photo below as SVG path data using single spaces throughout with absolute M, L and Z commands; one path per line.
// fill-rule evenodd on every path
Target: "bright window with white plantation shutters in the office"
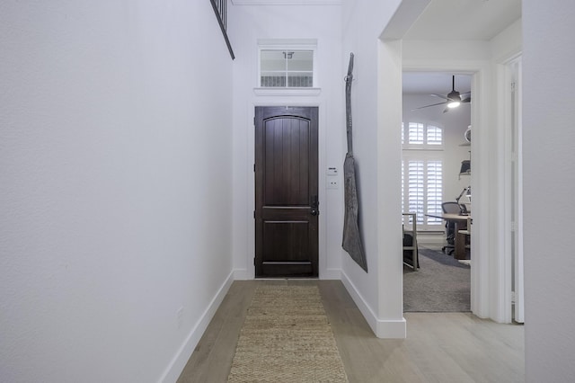
M 417 213 L 418 230 L 438 230 L 443 201 L 443 129 L 419 122 L 402 125 L 402 209 Z

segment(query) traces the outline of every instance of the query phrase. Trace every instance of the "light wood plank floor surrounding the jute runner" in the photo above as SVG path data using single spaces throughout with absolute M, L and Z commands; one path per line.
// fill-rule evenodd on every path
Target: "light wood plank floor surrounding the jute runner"
M 469 313 L 405 313 L 407 339 L 378 339 L 341 281 L 234 281 L 178 382 L 226 382 L 258 283 L 317 284 L 349 382 L 523 382 L 521 325 Z

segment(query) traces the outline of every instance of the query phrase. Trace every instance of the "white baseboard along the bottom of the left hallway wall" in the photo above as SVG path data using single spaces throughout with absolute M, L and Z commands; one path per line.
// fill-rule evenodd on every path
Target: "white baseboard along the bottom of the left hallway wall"
M 159 380 L 163 383 L 172 383 L 178 380 L 180 377 L 181 371 L 186 366 L 186 363 L 190 360 L 191 353 L 194 352 L 194 349 L 199 343 L 199 339 L 208 328 L 209 321 L 212 320 L 214 314 L 216 314 L 217 307 L 222 303 L 224 297 L 226 297 L 227 291 L 232 286 L 232 282 L 234 281 L 234 272 L 230 272 L 227 276 L 226 281 L 220 286 L 217 290 L 216 295 L 212 298 L 211 302 L 209 302 L 208 307 L 199 317 L 198 323 L 194 325 L 191 329 L 190 334 L 187 336 L 185 342 L 181 345 L 180 350 L 176 352 L 176 355 L 173 357 L 173 360 L 168 365 L 167 369 L 164 371 L 164 375 Z

